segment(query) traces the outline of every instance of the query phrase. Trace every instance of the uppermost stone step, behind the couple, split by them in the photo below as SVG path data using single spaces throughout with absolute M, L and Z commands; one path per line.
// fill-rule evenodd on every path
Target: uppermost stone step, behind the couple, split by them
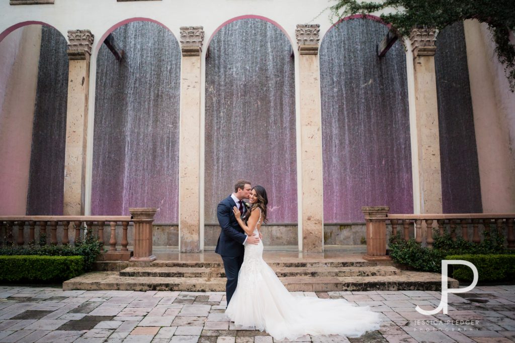
M 365 267 L 377 265 L 393 265 L 391 262 L 353 261 L 347 259 L 265 259 L 268 265 L 274 267 Z M 223 268 L 220 261 L 188 262 L 188 261 L 162 261 L 128 262 L 128 261 L 96 261 L 95 270 L 106 272 L 119 272 L 128 267 L 178 267 L 178 268 Z

